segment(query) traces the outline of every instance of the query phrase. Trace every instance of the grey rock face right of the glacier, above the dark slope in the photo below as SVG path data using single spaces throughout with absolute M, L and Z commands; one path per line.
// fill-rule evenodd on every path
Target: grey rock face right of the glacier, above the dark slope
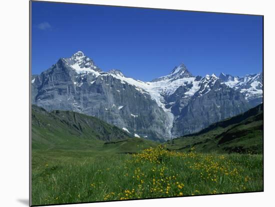
M 199 131 L 209 122 L 234 116 L 250 108 L 242 93 L 222 84 L 217 77 L 203 79 L 199 90 L 174 121 L 172 134 L 175 137 Z

